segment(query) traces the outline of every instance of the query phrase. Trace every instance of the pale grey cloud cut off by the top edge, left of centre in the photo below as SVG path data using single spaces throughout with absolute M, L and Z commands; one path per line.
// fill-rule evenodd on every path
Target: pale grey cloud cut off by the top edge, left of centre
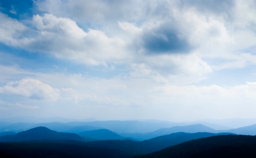
M 38 10 L 65 16 L 91 26 L 110 24 L 120 20 L 137 20 L 143 15 L 143 1 L 35 1 Z M 141 8 L 142 7 L 142 8 Z M 87 25 L 86 25 L 87 26 Z

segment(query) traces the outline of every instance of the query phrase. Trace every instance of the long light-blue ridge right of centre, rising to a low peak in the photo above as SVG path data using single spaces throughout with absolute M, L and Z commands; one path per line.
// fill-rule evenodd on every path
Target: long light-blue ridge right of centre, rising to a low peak
M 121 136 L 122 137 L 131 137 L 131 138 L 138 139 L 138 140 L 146 140 L 146 139 L 151 139 L 151 138 L 155 138 L 158 136 L 173 134 L 176 132 L 187 132 L 187 133 L 213 132 L 213 133 L 216 133 L 217 131 L 210 127 L 204 126 L 203 124 L 193 124 L 193 125 L 188 125 L 188 126 L 174 126 L 171 128 L 162 128 L 162 129 L 158 129 L 154 132 L 148 132 L 145 134 L 121 134 Z

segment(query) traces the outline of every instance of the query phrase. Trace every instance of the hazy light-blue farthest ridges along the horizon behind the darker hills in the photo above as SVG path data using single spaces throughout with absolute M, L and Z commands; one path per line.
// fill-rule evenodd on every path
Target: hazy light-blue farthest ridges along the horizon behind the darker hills
M 122 126 L 120 124 L 124 123 Z M 169 124 L 168 124 L 169 123 Z M 175 123 L 174 123 L 175 124 Z M 92 122 L 48 122 L 48 123 L 4 123 L 0 122 L 0 132 L 20 132 L 29 130 L 35 127 L 46 127 L 58 132 L 69 132 L 75 134 L 81 134 L 82 132 L 88 131 L 89 134 L 93 130 L 105 129 L 109 132 L 114 132 L 113 135 L 118 135 L 116 138 L 106 138 L 95 136 L 98 138 L 86 139 L 86 140 L 107 140 L 107 139 L 131 139 L 131 140 L 147 140 L 158 136 L 169 135 L 175 132 L 211 132 L 211 133 L 220 133 L 220 132 L 229 132 L 238 135 L 256 135 L 256 124 L 251 126 L 229 129 L 229 130 L 215 130 L 213 128 L 207 127 L 203 124 L 191 124 L 186 126 L 173 126 L 170 122 L 140 122 L 140 121 L 92 121 Z M 146 126 L 150 126 L 145 128 Z M 153 127 L 151 127 L 153 126 Z M 171 127 L 169 127 L 171 126 Z M 143 129 L 145 128 L 145 129 Z M 142 130 L 143 129 L 143 130 Z M 156 130 L 153 130 L 156 129 Z M 152 131 L 153 130 L 153 131 Z M 119 131 L 119 132 L 117 132 Z M 120 132 L 120 131 L 133 131 L 133 132 Z M 144 131 L 144 132 L 137 132 Z M 150 132 L 145 132 L 150 131 Z M 86 132 L 85 132 L 86 133 Z M 4 133 L 0 133 L 3 136 Z M 84 135 L 84 137 L 86 137 Z

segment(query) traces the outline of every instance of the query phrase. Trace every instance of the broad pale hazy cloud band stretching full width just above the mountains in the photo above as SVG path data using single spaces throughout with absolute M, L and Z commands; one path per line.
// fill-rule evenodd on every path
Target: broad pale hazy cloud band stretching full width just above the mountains
M 47 107 L 53 115 L 60 114 L 61 108 L 61 113 L 68 117 L 86 115 L 86 117 L 98 119 L 116 119 L 115 117 L 131 119 L 132 114 L 145 119 L 191 121 L 204 118 L 254 116 L 254 96 L 256 95 L 254 82 L 230 87 L 177 86 L 167 81 L 156 82 L 150 77 L 139 77 L 140 73 L 142 76 L 155 74 L 154 71 L 148 70 L 145 64 L 133 66 L 134 69 L 138 69 L 138 74 L 134 74 L 136 76 L 119 76 L 109 79 L 81 74 L 37 73 L 34 74 L 37 79 L 27 80 L 30 84 L 19 84 L 26 79 L 7 84 L 6 86 L 15 89 L 13 91 L 5 89 L 6 86 L 1 87 L 0 92 L 5 93 L 4 96 L 11 96 L 11 99 L 9 97 L 1 99 L 6 103 L 10 102 L 10 105 L 13 105 L 10 106 L 12 108 L 23 107 L 22 109 L 26 110 L 30 106 L 31 108 L 38 106 L 41 111 L 45 111 Z M 45 83 L 54 85 L 54 88 L 50 89 L 53 89 L 53 93 L 57 92 L 57 99 L 46 98 L 46 96 L 41 100 L 24 99 L 15 102 L 29 106 L 14 106 L 15 102 L 12 103 L 12 100 L 17 97 L 14 94 L 30 97 L 29 94 L 36 91 L 29 88 L 29 85 L 38 84 L 31 84 L 31 82 L 44 85 L 43 87 L 47 87 Z M 28 93 L 29 90 L 30 93 Z M 51 90 L 43 90 L 43 92 L 49 94 Z M 117 111 L 118 114 L 116 114 Z

